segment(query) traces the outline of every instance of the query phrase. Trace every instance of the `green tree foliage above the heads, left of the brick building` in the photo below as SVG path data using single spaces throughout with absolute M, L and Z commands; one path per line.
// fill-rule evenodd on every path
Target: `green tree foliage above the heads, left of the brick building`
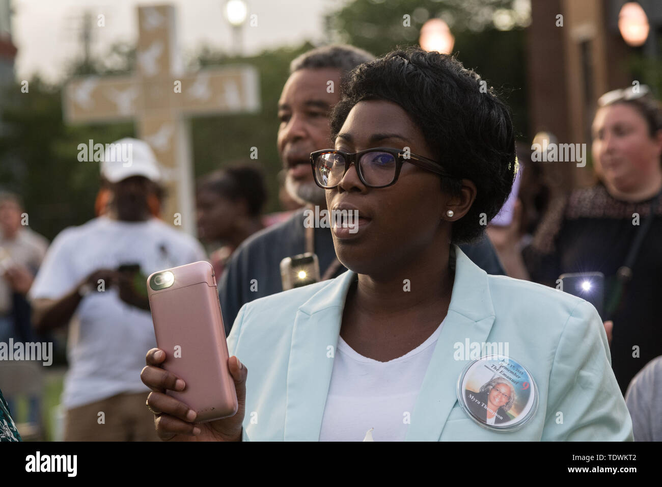
M 435 17 L 444 19 L 455 37 L 453 54 L 495 87 L 512 109 L 520 138 L 529 140 L 526 0 L 354 0 L 328 15 L 326 24 L 340 42 L 379 56 L 418 45 L 420 28 Z

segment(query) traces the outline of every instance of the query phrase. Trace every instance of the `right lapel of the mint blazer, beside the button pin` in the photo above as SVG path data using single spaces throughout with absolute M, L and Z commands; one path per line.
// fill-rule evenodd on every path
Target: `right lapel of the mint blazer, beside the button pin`
M 448 315 L 423 378 L 406 441 L 439 440 L 457 401 L 457 379 L 469 363 L 464 356 L 455 360 L 453 345 L 486 342 L 495 320 L 487 273 L 455 245 L 451 246 L 451 259 L 453 250 L 455 280 Z

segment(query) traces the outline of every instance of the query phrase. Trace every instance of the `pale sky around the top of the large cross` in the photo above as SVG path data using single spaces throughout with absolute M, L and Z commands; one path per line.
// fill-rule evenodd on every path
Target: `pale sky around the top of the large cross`
M 137 38 L 137 5 L 169 3 L 177 9 L 180 54 L 185 56 L 209 44 L 232 48 L 232 30 L 224 17 L 225 0 L 12 0 L 13 42 L 19 48 L 15 72 L 19 80 L 38 72 L 48 81 L 63 76 L 66 62 L 82 56 L 80 38 L 83 13 L 93 17 L 92 52 L 103 54 L 113 42 L 134 44 Z M 297 46 L 304 40 L 320 42 L 324 13 L 346 0 L 246 0 L 248 15 L 258 15 L 258 26 L 246 25 L 245 54 L 264 49 Z M 97 27 L 97 15 L 105 27 Z

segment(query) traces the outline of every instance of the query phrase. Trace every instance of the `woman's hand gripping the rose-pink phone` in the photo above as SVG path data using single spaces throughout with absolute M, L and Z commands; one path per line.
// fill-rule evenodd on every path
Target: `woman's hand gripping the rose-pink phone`
M 152 390 L 147 396 L 147 406 L 154 412 L 154 426 L 159 437 L 164 441 L 241 441 L 246 409 L 246 366 L 236 356 L 228 358 L 228 368 L 237 392 L 236 414 L 207 423 L 195 423 L 195 411 L 166 394 L 166 390 L 181 392 L 186 384 L 175 374 L 161 368 L 164 360 L 164 351 L 151 349 L 147 352 L 147 365 L 140 372 L 143 384 Z

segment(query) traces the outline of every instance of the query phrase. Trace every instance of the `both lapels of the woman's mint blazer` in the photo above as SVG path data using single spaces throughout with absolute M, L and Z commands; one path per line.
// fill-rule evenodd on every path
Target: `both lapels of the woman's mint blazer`
M 485 271 L 455 245 L 451 259 L 455 280 L 448 315 L 412 411 L 407 441 L 438 441 L 457 401 L 457 378 L 468 363 L 455 360 L 453 345 L 464 345 L 467 339 L 487 341 L 495 319 Z M 297 311 L 287 372 L 285 441 L 319 439 L 345 297 L 355 275 L 348 271 L 331 280 Z

